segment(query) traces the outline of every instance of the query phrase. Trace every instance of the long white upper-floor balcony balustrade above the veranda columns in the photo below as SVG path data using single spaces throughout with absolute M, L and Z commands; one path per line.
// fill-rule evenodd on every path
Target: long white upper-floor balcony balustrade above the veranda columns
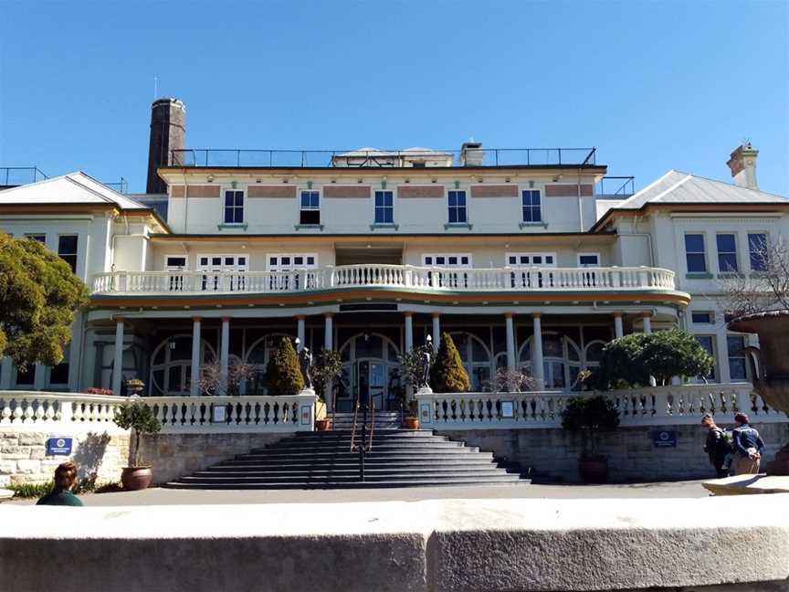
M 347 289 L 420 292 L 673 291 L 658 268 L 458 269 L 346 265 L 291 271 L 112 271 L 93 278 L 94 294 L 300 293 Z

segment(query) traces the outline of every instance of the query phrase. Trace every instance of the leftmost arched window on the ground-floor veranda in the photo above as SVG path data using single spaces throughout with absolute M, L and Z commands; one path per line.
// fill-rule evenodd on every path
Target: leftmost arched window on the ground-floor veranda
M 216 359 L 214 348 L 205 339 L 200 359 L 210 364 Z M 192 335 L 168 337 L 156 346 L 151 356 L 151 396 L 188 396 L 192 374 Z

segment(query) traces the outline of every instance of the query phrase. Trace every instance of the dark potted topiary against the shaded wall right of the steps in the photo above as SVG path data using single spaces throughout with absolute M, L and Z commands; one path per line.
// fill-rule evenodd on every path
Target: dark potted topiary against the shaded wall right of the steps
M 608 478 L 608 458 L 598 451 L 600 432 L 619 425 L 619 411 L 605 396 L 573 396 L 562 410 L 562 427 L 581 432 L 583 451 L 578 460 L 581 479 L 603 483 Z

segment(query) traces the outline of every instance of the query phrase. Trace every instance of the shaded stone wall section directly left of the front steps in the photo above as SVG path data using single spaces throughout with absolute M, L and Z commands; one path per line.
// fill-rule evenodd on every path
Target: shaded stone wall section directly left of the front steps
M 164 483 L 292 435 L 153 434 L 142 441 L 142 460 L 153 466 L 153 481 Z

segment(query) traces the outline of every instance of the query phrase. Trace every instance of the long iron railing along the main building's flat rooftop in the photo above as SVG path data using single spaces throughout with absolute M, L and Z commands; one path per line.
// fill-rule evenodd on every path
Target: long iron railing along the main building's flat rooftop
M 593 148 L 469 148 L 466 150 L 241 150 L 170 152 L 171 166 L 189 167 L 403 167 L 594 165 Z M 441 164 L 445 163 L 445 164 Z

